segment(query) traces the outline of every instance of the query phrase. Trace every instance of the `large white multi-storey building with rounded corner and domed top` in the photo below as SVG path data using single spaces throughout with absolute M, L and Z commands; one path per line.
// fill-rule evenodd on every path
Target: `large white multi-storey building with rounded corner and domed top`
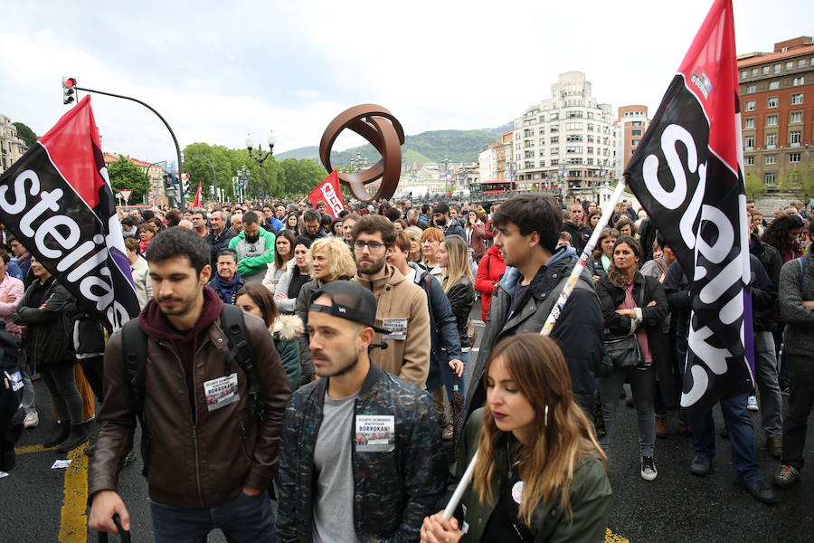
M 615 116 L 599 103 L 582 71 L 561 73 L 551 98 L 515 119 L 514 169 L 518 189 L 551 186 L 564 195 L 592 197 L 617 167 Z

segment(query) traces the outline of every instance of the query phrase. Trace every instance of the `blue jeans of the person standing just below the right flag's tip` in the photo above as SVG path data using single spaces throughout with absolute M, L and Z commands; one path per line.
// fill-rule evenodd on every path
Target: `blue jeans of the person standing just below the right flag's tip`
M 754 459 L 754 428 L 752 417 L 746 410 L 746 395 L 737 395 L 720 401 L 724 423 L 729 431 L 732 448 L 732 466 L 742 481 L 759 481 L 760 466 Z M 715 456 L 715 422 L 712 410 L 693 426 L 693 449 L 696 454 L 712 459 Z

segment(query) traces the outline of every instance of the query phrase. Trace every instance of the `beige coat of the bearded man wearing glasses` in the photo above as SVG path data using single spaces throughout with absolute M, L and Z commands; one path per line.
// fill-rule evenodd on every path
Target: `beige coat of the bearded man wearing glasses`
M 387 328 L 393 319 L 407 319 L 403 339 L 385 339 L 387 348 L 374 348 L 370 359 L 387 373 L 399 376 L 421 388 L 430 374 L 430 310 L 427 295 L 416 284 L 407 281 L 401 271 L 385 264 L 374 276 L 354 281 L 372 291 L 376 297 L 376 325 Z M 374 343 L 381 343 L 376 334 Z

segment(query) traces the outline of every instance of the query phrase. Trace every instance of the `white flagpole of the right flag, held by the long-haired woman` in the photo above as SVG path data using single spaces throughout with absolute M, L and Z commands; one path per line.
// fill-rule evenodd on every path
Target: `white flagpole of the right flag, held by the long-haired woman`
M 571 275 L 568 276 L 568 281 L 565 281 L 565 286 L 563 287 L 563 291 L 560 292 L 560 297 L 557 299 L 557 303 L 554 305 L 554 308 L 552 308 L 551 313 L 548 314 L 548 319 L 545 319 L 543 329 L 540 330 L 541 335 L 548 336 L 551 334 L 551 330 L 554 329 L 554 324 L 557 323 L 557 319 L 563 310 L 565 302 L 567 302 L 568 297 L 571 296 L 571 292 L 573 291 L 574 286 L 576 286 L 576 281 L 580 279 L 582 270 L 585 269 L 585 265 L 588 263 L 588 258 L 593 252 L 593 247 L 599 241 L 602 230 L 604 230 L 605 226 L 611 221 L 611 215 L 613 214 L 613 210 L 616 208 L 616 203 L 619 202 L 622 193 L 625 192 L 625 186 L 625 178 L 622 176 L 619 183 L 616 185 L 616 190 L 614 190 L 613 195 L 611 195 L 611 200 L 608 202 L 608 205 L 602 209 L 600 220 L 593 229 L 593 233 L 591 234 L 591 238 L 589 238 L 588 243 L 585 244 L 585 248 L 582 250 L 582 255 L 580 255 L 580 260 L 577 261 L 576 265 L 574 265 Z M 467 471 L 464 472 L 463 477 L 460 478 L 458 486 L 455 488 L 455 492 L 453 492 L 450 501 L 447 503 L 447 507 L 444 508 L 444 519 L 449 520 L 452 517 L 452 513 L 458 508 L 458 504 L 460 499 L 463 497 L 464 491 L 466 491 L 467 487 L 469 487 L 469 481 L 472 479 L 472 472 L 475 471 L 475 462 L 477 461 L 478 452 L 476 451 L 472 456 L 472 460 L 469 461 Z

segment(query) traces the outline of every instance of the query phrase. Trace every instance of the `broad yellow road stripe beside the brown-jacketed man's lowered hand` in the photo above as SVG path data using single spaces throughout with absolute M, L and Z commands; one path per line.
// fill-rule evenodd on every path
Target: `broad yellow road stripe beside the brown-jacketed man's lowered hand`
M 60 513 L 60 543 L 88 540 L 88 456 L 77 447 L 68 453 L 71 465 L 65 469 L 65 490 Z

